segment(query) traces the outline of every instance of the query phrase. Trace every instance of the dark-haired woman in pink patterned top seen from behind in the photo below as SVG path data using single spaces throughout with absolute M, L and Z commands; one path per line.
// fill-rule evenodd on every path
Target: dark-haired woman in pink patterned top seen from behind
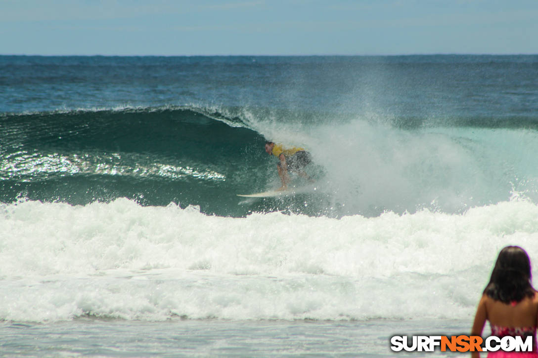
M 493 267 L 490 282 L 478 303 L 472 335 L 482 335 L 486 320 L 490 321 L 491 335 L 533 336 L 533 352 L 490 352 L 488 357 L 538 357 L 536 347 L 536 315 L 538 292 L 530 283 L 529 256 L 519 246 L 501 250 Z M 473 352 L 478 357 L 478 352 Z

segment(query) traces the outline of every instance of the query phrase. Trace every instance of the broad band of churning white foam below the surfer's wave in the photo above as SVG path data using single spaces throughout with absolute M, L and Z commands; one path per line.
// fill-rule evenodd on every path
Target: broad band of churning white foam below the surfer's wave
M 0 215 L 0 318 L 467 318 L 500 248 L 538 260 L 538 206 L 207 216 L 127 199 Z

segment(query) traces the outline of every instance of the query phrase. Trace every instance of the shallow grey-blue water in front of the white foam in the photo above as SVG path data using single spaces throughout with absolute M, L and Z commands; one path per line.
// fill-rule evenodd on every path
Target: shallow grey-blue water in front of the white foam
M 2 355 L 36 357 L 436 356 L 441 352 L 392 352 L 390 336 L 451 335 L 468 330 L 466 320 L 384 319 L 220 321 L 178 318 L 139 322 L 83 318 L 53 324 L 0 325 Z

